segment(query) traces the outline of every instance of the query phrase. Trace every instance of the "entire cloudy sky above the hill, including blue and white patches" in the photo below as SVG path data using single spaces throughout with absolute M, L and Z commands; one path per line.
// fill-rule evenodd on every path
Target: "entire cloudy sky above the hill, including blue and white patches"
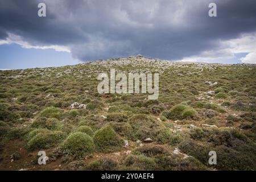
M 46 17 L 38 3 L 46 3 Z M 217 17 L 209 17 L 209 3 Z M 255 0 L 0 0 L 0 68 L 143 56 L 256 63 Z

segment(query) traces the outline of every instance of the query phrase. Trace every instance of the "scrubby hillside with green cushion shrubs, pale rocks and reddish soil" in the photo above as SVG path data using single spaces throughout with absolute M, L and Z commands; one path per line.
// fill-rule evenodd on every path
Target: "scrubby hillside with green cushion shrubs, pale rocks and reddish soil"
M 158 100 L 99 94 L 111 68 L 159 73 Z M 0 77 L 1 170 L 256 169 L 255 65 L 138 55 Z

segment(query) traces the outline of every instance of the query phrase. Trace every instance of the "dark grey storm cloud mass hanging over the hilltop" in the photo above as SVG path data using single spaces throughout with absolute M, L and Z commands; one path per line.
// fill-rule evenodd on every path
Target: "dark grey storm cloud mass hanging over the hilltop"
M 39 2 L 47 5 L 46 18 L 37 16 Z M 208 16 L 210 2 L 217 18 Z M 138 53 L 182 59 L 254 31 L 253 0 L 0 0 L 0 39 L 12 33 L 35 46 L 67 46 L 80 60 Z

